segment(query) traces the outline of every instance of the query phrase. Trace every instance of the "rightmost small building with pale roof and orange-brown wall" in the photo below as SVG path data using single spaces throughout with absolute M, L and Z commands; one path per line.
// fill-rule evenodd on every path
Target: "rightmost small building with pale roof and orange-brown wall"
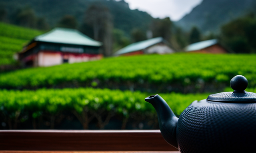
M 217 39 L 211 39 L 206 41 L 200 41 L 198 43 L 192 43 L 185 48 L 186 52 L 190 53 L 212 53 L 212 54 L 222 54 L 228 53 Z

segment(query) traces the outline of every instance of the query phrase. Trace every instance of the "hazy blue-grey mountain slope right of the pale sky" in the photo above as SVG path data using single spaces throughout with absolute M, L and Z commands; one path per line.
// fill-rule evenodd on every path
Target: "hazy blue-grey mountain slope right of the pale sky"
M 201 31 L 218 31 L 220 26 L 250 12 L 256 12 L 256 0 L 203 0 L 176 22 L 185 30 L 197 26 Z

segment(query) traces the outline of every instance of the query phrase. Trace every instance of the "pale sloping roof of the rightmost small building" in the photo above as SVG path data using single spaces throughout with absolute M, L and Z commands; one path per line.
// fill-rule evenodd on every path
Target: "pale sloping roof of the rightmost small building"
M 192 43 L 192 44 L 188 45 L 185 48 L 185 51 L 196 51 L 196 50 L 199 50 L 199 49 L 204 49 L 206 47 L 210 47 L 210 46 L 215 45 L 217 43 L 218 43 L 217 39 L 200 41 L 198 43 Z

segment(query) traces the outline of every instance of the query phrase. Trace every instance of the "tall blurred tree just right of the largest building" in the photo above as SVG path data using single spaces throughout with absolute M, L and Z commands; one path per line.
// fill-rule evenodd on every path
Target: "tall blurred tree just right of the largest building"
M 102 5 L 91 5 L 85 14 L 85 23 L 93 29 L 94 39 L 103 41 L 105 56 L 112 55 L 112 15 Z

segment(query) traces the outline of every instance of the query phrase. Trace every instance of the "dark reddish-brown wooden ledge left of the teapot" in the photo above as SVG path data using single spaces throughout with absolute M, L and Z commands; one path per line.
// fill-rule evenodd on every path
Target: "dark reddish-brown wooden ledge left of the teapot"
M 178 151 L 160 130 L 0 130 L 0 150 Z

